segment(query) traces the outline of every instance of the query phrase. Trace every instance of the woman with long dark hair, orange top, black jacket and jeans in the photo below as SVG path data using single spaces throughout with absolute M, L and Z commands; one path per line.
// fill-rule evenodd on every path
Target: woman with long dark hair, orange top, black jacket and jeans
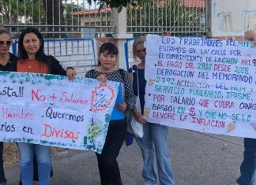
M 26 28 L 21 32 L 18 43 L 20 59 L 15 65 L 17 72 L 36 72 L 68 76 L 72 79 L 76 73 L 73 68 L 65 71 L 55 57 L 47 56 L 43 51 L 43 36 L 36 28 Z M 19 142 L 20 168 L 23 185 L 33 184 L 33 158 L 36 154 L 40 185 L 50 183 L 51 146 Z

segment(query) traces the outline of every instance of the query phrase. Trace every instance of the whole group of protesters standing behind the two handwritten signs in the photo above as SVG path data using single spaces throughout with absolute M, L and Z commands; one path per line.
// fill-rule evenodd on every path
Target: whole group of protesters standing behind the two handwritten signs
M 166 32 L 164 33 L 166 35 Z M 247 31 L 245 38 L 254 40 L 256 32 Z M 122 179 L 117 157 L 126 139 L 127 111 L 131 111 L 135 119 L 143 125 L 144 135 L 135 138 L 143 157 L 142 177 L 144 184 L 156 184 L 157 173 L 154 165 L 156 156 L 158 178 L 161 185 L 175 184 L 171 169 L 171 159 L 168 154 L 168 127 L 161 124 L 149 123 L 143 116 L 145 105 L 145 37 L 137 38 L 133 45 L 134 60 L 138 61 L 128 72 L 118 68 L 118 48 L 113 43 L 100 46 L 99 63 L 96 69 L 86 72 L 85 77 L 100 80 L 117 81 L 124 84 L 124 102 L 115 103 L 125 118 L 111 120 L 107 129 L 107 137 L 101 154 L 96 153 L 100 182 L 102 185 L 121 185 Z M 43 36 L 36 28 L 25 28 L 18 42 L 17 56 L 9 53 L 12 45 L 9 32 L 0 28 L 0 71 L 36 72 L 67 76 L 70 80 L 76 76 L 74 68 L 62 68 L 60 62 L 52 56 L 47 56 L 43 50 Z M 140 98 L 141 111 L 134 107 L 135 95 Z M 17 142 L 19 149 L 19 165 L 21 170 L 20 185 L 32 185 L 39 181 L 40 185 L 48 185 L 51 177 L 51 146 L 43 146 L 27 142 Z M 252 185 L 256 169 L 256 139 L 244 139 L 244 159 L 241 164 L 241 176 L 236 182 L 239 185 Z M 3 142 L 0 142 L 0 185 L 6 185 L 3 168 Z M 38 176 L 38 179 L 33 177 Z

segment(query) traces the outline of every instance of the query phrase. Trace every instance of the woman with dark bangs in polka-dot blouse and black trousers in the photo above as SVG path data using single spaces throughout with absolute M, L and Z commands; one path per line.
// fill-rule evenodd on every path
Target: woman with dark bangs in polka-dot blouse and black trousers
M 115 107 L 125 113 L 125 118 L 110 121 L 102 153 L 96 153 L 102 185 L 122 184 L 119 164 L 116 158 L 119 156 L 122 142 L 126 138 L 126 110 L 134 106 L 134 93 L 128 73 L 123 69 L 116 68 L 118 54 L 119 50 L 114 44 L 104 43 L 100 46 L 98 67 L 95 70 L 88 71 L 85 75 L 85 77 L 94 78 L 103 83 L 107 82 L 107 80 L 124 83 L 124 102 L 115 103 Z

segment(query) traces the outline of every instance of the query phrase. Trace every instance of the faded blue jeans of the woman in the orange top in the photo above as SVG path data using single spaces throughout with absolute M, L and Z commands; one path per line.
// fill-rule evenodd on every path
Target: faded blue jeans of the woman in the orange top
M 51 146 L 18 143 L 23 185 L 33 184 L 33 159 L 36 153 L 40 185 L 49 185 L 51 172 Z

